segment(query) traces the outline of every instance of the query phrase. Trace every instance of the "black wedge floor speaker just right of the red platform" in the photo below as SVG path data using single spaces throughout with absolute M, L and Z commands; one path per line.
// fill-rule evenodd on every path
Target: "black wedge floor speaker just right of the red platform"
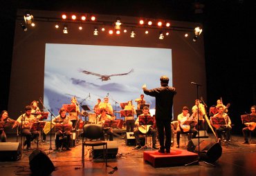
M 216 162 L 222 155 L 221 145 L 217 142 L 212 142 L 210 139 L 192 139 L 189 141 L 188 150 L 194 153 L 199 153 L 201 160 L 205 162 Z

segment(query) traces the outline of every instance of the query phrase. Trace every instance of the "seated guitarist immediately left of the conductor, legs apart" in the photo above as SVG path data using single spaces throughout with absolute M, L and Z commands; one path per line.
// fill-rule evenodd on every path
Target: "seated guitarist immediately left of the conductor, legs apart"
M 152 141 L 153 141 L 152 148 L 157 150 L 158 148 L 156 147 L 156 130 L 153 128 L 152 125 L 144 126 L 144 125 L 140 125 L 139 123 L 140 117 L 145 117 L 145 116 L 151 117 L 149 114 L 149 108 L 147 106 L 143 107 L 143 114 L 139 115 L 135 121 L 135 126 L 137 126 L 138 128 L 134 130 L 134 137 L 136 140 L 136 147 L 134 147 L 134 149 L 141 148 L 139 135 L 147 133 L 152 135 Z M 155 124 L 155 119 L 154 119 L 154 124 Z

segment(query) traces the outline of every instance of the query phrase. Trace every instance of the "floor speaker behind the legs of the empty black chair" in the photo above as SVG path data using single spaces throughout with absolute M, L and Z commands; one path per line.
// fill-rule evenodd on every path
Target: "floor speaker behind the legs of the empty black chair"
M 107 141 L 107 158 L 116 158 L 118 155 L 118 142 Z M 93 147 L 93 159 L 103 158 L 103 146 Z

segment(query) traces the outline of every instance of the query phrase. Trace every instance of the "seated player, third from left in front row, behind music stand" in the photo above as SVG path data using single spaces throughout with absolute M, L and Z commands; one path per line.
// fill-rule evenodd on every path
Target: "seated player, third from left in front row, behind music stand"
M 70 121 L 68 115 L 66 115 L 66 110 L 64 108 L 60 108 L 59 115 L 52 120 L 52 124 L 53 125 L 62 124 L 62 125 L 72 126 L 72 122 Z M 66 130 L 66 131 L 58 130 L 56 132 L 56 139 L 55 139 L 56 149 L 55 150 L 58 150 L 61 147 L 62 144 L 61 144 L 60 139 L 65 136 L 67 137 L 66 150 L 71 150 L 68 147 L 68 144 L 70 144 L 70 142 L 71 142 L 71 131 L 70 130 Z

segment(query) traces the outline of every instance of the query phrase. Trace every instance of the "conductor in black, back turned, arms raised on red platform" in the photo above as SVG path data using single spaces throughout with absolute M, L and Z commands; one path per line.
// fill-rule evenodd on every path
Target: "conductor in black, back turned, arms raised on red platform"
M 172 104 L 176 90 L 168 86 L 169 78 L 162 76 L 160 78 L 161 87 L 148 90 L 147 86 L 143 85 L 145 95 L 156 97 L 156 127 L 158 130 L 158 138 L 160 143 L 159 153 L 170 153 L 172 144 Z M 165 140 L 165 144 L 164 144 Z

